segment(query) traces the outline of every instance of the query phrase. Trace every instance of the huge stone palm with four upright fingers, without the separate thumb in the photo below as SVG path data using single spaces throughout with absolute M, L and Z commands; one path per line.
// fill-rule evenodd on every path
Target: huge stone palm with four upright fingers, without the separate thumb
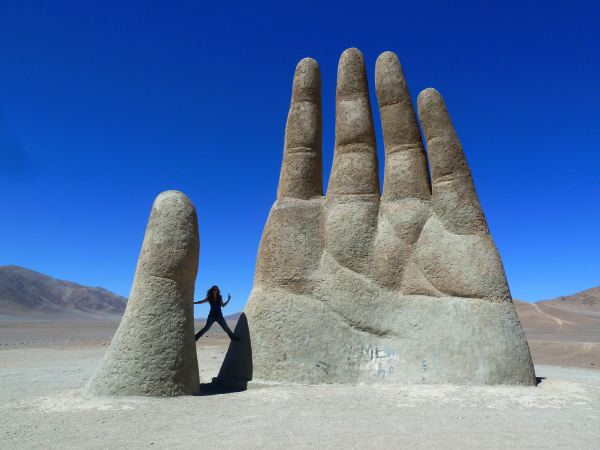
M 533 384 L 529 348 L 461 144 L 434 89 L 425 146 L 395 54 L 377 60 L 379 191 L 361 53 L 340 59 L 336 142 L 322 192 L 321 82 L 296 68 L 277 200 L 245 310 L 254 379 Z M 232 344 L 232 346 L 241 344 Z

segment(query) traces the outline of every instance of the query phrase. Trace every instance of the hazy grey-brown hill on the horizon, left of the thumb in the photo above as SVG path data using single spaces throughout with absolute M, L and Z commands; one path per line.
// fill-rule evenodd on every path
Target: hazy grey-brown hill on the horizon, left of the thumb
M 0 266 L 0 315 L 121 315 L 127 299 L 100 287 L 57 280 L 18 266 Z

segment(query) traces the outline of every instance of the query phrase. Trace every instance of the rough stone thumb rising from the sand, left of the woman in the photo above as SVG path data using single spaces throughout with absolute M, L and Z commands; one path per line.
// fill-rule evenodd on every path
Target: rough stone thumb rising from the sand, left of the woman
M 176 396 L 199 389 L 193 298 L 198 219 L 181 192 L 152 206 L 125 315 L 85 392 Z

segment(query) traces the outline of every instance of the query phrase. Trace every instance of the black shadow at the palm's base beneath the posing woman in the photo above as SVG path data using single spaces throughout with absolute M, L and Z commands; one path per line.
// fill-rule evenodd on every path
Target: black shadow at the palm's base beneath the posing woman
M 200 384 L 198 395 L 228 394 L 248 388 L 248 381 L 252 380 L 252 343 L 244 313 L 240 315 L 234 333 L 240 340 L 229 343 L 219 374 L 212 382 Z

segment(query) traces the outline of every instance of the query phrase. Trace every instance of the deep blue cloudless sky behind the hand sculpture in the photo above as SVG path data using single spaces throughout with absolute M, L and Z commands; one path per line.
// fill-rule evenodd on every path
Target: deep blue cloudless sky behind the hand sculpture
M 413 100 L 444 95 L 513 296 L 597 286 L 597 5 L 2 1 L 0 264 L 126 296 L 152 201 L 179 189 L 199 214 L 198 295 L 219 284 L 241 310 L 295 65 L 321 65 L 326 183 L 337 62 L 358 47 L 371 83 L 392 50 Z

